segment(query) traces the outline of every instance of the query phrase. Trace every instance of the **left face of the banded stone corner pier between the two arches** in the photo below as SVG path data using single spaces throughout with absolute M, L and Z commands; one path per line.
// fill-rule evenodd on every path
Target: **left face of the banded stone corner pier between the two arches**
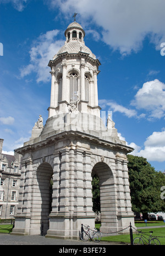
M 52 212 L 46 237 L 70 238 L 70 215 L 73 204 L 70 189 L 73 188 L 69 184 L 72 178 L 69 162 L 69 149 L 65 148 L 59 153 L 54 153 Z

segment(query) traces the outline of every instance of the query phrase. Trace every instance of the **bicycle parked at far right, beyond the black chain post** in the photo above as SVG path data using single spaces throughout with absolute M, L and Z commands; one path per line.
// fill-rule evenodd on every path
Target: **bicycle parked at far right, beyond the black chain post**
M 139 233 L 141 233 L 142 231 L 138 231 Z M 153 231 L 149 231 L 150 232 L 150 236 L 149 236 L 149 239 L 146 238 L 142 233 L 141 233 L 141 237 L 136 237 L 134 240 L 133 240 L 133 244 L 134 245 L 141 245 L 143 246 L 144 244 L 148 244 L 148 245 L 156 245 L 156 246 L 160 246 L 160 241 L 155 238 L 155 237 L 152 237 L 152 233 Z

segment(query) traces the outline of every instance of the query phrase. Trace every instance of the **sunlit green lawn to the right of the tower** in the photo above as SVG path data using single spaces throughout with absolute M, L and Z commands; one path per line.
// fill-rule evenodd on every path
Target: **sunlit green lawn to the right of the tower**
M 155 225 L 153 225 L 155 224 Z M 157 224 L 157 225 L 156 225 Z M 163 226 L 164 223 L 148 223 L 147 226 Z M 135 223 L 135 226 L 137 230 L 140 231 L 140 227 L 146 226 L 145 223 Z M 96 224 L 96 228 L 100 228 L 100 224 Z M 134 230 L 134 229 L 133 229 Z M 129 228 L 128 228 L 129 231 Z M 143 233 L 146 233 L 147 235 L 150 235 L 149 231 L 150 229 L 142 229 Z M 157 236 L 158 240 L 160 241 L 161 245 L 165 245 L 165 225 L 162 228 L 152 228 L 153 236 Z M 138 234 L 133 234 L 133 238 L 140 237 Z M 146 236 L 149 237 L 149 236 Z M 163 238 L 162 238 L 163 237 Z M 119 234 L 116 236 L 109 236 L 109 237 L 102 237 L 101 241 L 112 241 L 112 242 L 123 242 L 123 243 L 129 243 L 130 244 L 130 234 Z

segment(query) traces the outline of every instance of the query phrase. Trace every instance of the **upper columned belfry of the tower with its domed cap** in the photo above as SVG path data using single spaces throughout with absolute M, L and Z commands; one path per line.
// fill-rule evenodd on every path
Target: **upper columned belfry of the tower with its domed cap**
M 67 113 L 76 107 L 80 113 L 100 116 L 97 94 L 97 74 L 100 61 L 85 46 L 85 31 L 79 23 L 65 30 L 65 44 L 48 63 L 52 87 L 49 117 Z

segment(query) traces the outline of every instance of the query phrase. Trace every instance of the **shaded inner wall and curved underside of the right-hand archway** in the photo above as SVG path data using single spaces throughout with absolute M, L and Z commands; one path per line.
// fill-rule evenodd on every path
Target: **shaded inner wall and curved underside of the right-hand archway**
M 109 233 L 117 229 L 116 184 L 112 170 L 105 162 L 97 162 L 92 168 L 92 177 L 100 180 L 101 232 Z

